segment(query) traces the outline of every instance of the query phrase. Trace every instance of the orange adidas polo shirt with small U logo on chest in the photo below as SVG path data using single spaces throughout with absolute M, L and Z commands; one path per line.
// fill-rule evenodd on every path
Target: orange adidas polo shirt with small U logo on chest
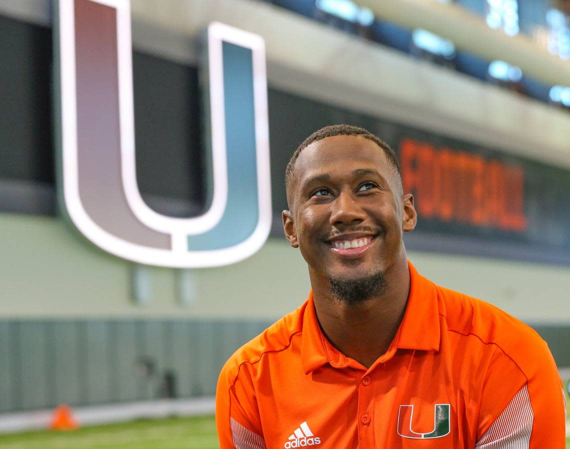
M 534 330 L 412 264 L 404 319 L 369 369 L 323 336 L 312 294 L 222 369 L 222 449 L 564 449 L 562 384 Z

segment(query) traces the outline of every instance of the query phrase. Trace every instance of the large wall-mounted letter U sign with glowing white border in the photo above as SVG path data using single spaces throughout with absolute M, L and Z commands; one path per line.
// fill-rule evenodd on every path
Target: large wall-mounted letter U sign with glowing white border
M 58 188 L 75 227 L 105 251 L 157 266 L 222 266 L 258 251 L 271 227 L 263 39 L 207 28 L 200 70 L 211 202 L 198 217 L 168 217 L 137 185 L 128 0 L 57 3 Z

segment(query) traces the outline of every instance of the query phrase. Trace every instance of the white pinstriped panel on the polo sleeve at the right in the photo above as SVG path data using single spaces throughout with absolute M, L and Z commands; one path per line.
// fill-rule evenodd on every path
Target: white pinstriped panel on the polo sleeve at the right
M 534 413 L 525 385 L 475 444 L 477 449 L 528 449 Z

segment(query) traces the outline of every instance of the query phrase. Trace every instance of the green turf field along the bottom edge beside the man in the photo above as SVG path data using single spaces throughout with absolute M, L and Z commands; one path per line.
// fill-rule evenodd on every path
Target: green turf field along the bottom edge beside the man
M 218 449 L 218 438 L 213 417 L 169 418 L 0 435 L 0 449 Z

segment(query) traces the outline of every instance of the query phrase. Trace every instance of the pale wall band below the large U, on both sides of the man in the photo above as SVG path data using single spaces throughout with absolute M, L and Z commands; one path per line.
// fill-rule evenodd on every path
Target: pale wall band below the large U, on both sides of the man
M 194 271 L 196 301 L 178 303 L 179 272 L 148 268 L 150 300 L 132 300 L 133 264 L 59 219 L 0 215 L 0 318 L 278 319 L 307 297 L 307 268 L 284 239 L 229 267 Z M 410 252 L 429 279 L 528 323 L 568 323 L 570 267 Z

